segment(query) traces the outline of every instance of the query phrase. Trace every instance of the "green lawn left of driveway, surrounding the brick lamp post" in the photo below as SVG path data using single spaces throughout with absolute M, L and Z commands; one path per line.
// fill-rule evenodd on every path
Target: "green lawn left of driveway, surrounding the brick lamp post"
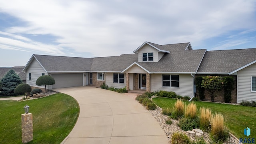
M 60 144 L 79 115 L 78 102 L 62 93 L 23 102 L 0 101 L 1 144 L 22 144 L 21 114 L 26 104 L 33 114 L 33 141 L 28 144 Z

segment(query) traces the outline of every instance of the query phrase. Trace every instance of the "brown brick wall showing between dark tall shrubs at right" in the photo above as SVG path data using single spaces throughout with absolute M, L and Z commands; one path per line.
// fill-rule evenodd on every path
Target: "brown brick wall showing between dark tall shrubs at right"
M 209 76 L 209 75 L 202 75 L 202 74 L 197 74 L 195 77 L 197 76 Z M 219 76 L 219 75 L 218 75 Z M 231 103 L 236 103 L 236 98 L 237 98 L 237 91 L 236 91 L 236 88 L 237 88 L 237 76 L 236 75 L 221 75 L 221 77 L 224 77 L 224 76 L 232 76 L 234 77 L 234 90 L 232 90 L 232 94 L 231 94 Z M 209 92 L 207 90 L 204 91 L 204 96 L 205 96 L 205 99 L 206 101 L 211 101 L 211 96 L 209 94 Z M 198 90 L 196 90 L 196 97 L 198 98 L 198 100 L 200 100 L 199 98 L 199 94 L 198 94 Z M 216 91 L 215 92 L 215 97 L 214 97 L 214 102 L 225 102 L 224 100 L 224 90 L 223 88 L 220 90 L 220 91 Z

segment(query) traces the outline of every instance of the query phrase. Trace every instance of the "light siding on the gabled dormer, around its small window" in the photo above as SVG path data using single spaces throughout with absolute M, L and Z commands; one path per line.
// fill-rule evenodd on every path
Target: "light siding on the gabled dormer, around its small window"
M 155 48 L 152 48 L 150 45 L 146 44 L 138 51 L 138 62 L 142 61 L 142 54 L 143 53 L 150 53 L 153 52 L 153 62 L 158 62 L 158 50 Z M 150 61 L 152 62 L 152 61 Z

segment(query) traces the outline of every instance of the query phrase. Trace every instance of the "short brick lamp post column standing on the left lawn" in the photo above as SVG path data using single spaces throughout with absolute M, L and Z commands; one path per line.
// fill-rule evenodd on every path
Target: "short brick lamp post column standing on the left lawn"
M 21 133 L 23 144 L 33 140 L 33 116 L 31 113 L 21 114 Z

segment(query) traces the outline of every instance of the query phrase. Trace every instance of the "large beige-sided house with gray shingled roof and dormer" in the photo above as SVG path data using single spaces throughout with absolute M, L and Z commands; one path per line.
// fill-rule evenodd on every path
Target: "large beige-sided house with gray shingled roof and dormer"
M 250 56 L 247 54 L 250 53 Z M 23 69 L 27 84 L 36 86 L 39 76 L 52 76 L 56 84 L 48 89 L 95 85 L 128 90 L 176 92 L 195 95 L 194 77 L 198 75 L 234 75 L 237 78 L 237 102 L 256 101 L 256 49 L 207 51 L 193 50 L 190 43 L 158 45 L 144 42 L 133 54 L 98 58 L 32 55 Z M 243 77 L 250 75 L 250 80 Z M 245 84 L 249 91 L 245 92 Z M 254 84 L 256 85 L 256 84 Z M 255 89 L 255 90 L 254 90 Z M 246 94 L 246 95 L 245 95 Z

